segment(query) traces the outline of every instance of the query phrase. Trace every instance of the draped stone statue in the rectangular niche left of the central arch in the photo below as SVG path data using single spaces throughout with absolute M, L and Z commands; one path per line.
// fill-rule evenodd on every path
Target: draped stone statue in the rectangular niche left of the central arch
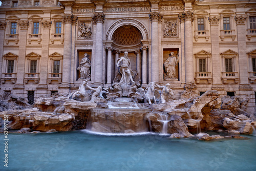
M 80 70 L 80 79 L 91 79 L 90 68 L 91 68 L 91 61 L 88 58 L 88 54 L 85 53 L 84 57 L 82 58 L 81 62 L 79 63 L 78 70 Z

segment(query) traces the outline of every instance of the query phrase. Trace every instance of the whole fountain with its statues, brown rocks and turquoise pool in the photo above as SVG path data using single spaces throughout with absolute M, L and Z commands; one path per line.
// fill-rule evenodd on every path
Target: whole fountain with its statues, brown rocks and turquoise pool
M 256 121 L 245 112 L 248 97 L 198 96 L 195 82 L 182 92 L 170 83 L 141 86 L 127 52 L 112 86 L 93 88 L 87 56 L 73 93 L 40 97 L 33 105 L 1 94 L 1 137 L 9 131 L 9 167 L 2 163 L 1 170 L 255 169 Z M 164 62 L 166 79 L 176 75 L 177 60 L 170 53 Z

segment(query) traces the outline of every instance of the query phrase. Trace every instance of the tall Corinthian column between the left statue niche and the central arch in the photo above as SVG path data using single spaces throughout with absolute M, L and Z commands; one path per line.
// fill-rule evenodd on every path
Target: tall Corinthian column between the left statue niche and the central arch
M 103 13 L 96 13 L 92 16 L 94 22 L 96 23 L 96 47 L 95 47 L 95 71 L 94 73 L 94 83 L 102 84 L 102 61 L 103 61 L 103 21 L 105 15 Z

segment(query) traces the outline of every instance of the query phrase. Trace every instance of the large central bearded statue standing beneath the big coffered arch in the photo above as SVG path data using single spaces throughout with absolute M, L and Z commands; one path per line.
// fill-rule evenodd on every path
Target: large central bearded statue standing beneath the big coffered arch
M 133 80 L 134 73 L 131 68 L 131 62 L 128 58 L 128 52 L 124 52 L 124 56 L 118 58 L 117 67 L 120 67 L 120 74 L 122 77 L 119 81 L 120 84 L 130 84 L 135 83 Z

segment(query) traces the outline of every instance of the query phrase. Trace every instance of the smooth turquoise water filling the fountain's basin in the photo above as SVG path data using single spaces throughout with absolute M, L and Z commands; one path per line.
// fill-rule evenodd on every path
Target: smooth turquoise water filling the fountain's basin
M 256 170 L 256 137 L 247 137 L 209 142 L 154 134 L 9 133 L 8 168 L 1 143 L 0 170 Z

